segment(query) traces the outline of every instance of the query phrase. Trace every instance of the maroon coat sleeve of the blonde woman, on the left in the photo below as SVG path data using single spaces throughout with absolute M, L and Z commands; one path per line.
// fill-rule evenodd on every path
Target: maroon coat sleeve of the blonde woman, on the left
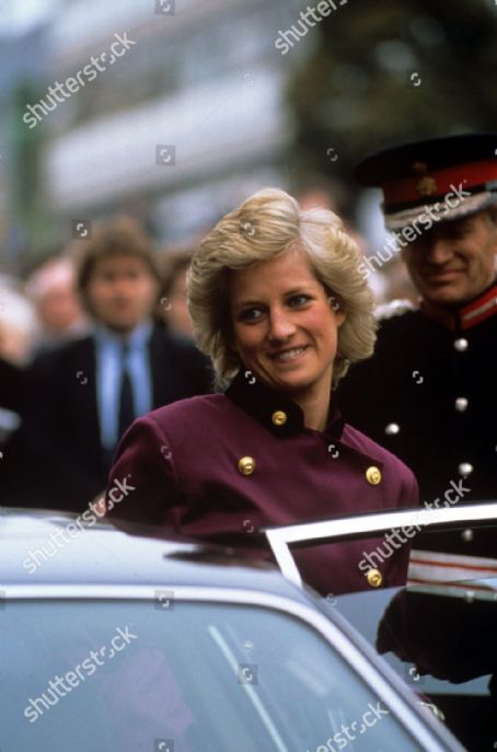
M 180 491 L 173 450 L 152 415 L 136 420 L 120 441 L 105 491 L 106 517 L 178 529 Z

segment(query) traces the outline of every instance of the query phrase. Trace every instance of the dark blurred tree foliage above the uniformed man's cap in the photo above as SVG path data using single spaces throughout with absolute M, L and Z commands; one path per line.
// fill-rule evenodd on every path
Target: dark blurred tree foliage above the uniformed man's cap
M 379 148 L 497 130 L 496 0 L 335 2 L 288 91 L 298 169 L 349 180 Z

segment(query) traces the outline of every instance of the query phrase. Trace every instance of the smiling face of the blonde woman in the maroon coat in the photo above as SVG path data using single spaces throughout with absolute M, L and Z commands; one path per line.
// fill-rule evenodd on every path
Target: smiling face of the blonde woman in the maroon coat
M 234 271 L 229 284 L 233 347 L 247 369 L 303 406 L 330 403 L 337 329 L 345 320 L 305 257 L 286 251 Z

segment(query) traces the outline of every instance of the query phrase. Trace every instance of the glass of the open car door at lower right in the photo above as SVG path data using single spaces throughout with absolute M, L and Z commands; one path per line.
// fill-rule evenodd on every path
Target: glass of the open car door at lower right
M 441 711 L 470 752 L 497 740 L 497 578 L 342 595 L 328 602 Z

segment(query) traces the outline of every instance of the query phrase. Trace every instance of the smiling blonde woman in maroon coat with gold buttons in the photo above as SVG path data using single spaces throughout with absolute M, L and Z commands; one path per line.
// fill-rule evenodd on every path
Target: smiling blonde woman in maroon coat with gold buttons
M 411 471 L 333 407 L 333 389 L 375 339 L 360 262 L 336 215 L 301 211 L 279 189 L 218 222 L 194 254 L 188 305 L 224 392 L 132 425 L 111 472 L 108 516 L 250 546 L 270 525 L 417 505 Z M 124 477 L 132 490 L 113 498 Z M 369 587 L 359 563 L 378 543 L 296 558 L 321 592 L 358 590 Z M 405 581 L 407 559 L 400 547 L 379 579 Z

